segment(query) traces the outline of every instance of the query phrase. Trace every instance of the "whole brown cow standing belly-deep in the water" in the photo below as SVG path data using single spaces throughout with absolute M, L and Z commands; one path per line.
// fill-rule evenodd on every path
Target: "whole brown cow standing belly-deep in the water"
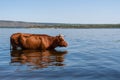
M 27 34 L 15 33 L 11 36 L 11 45 L 13 50 L 21 49 L 54 49 L 56 47 L 67 47 L 67 42 L 63 36 L 49 36 L 46 34 Z

